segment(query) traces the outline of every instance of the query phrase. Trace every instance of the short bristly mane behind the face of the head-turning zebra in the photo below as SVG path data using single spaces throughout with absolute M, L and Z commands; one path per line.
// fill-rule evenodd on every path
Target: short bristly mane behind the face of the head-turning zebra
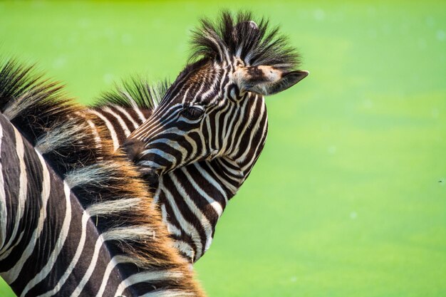
M 115 85 L 115 90 L 100 95 L 93 107 L 104 105 L 119 105 L 125 108 L 154 109 L 165 95 L 170 83 L 162 80 L 150 85 L 147 80 L 133 77 Z

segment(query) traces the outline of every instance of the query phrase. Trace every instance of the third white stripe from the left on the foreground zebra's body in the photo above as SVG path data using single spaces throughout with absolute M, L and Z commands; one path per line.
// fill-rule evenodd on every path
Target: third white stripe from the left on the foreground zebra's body
M 14 128 L 15 129 L 15 128 Z M 43 229 L 43 223 L 46 220 L 46 204 L 48 204 L 48 198 L 51 192 L 51 177 L 48 172 L 48 168 L 46 167 L 46 162 L 43 160 L 43 157 L 39 152 L 36 151 L 38 159 L 42 165 L 42 193 L 41 193 L 41 209 L 38 215 L 38 223 L 36 229 L 33 230 L 33 234 L 31 234 L 31 238 L 29 239 L 28 245 L 24 249 L 24 252 L 21 254 L 20 259 L 16 262 L 16 264 L 4 273 L 0 273 L 0 276 L 4 278 L 6 283 L 12 283 L 16 280 L 17 276 L 24 266 L 26 260 L 31 256 L 34 249 L 36 249 L 37 239 L 40 238 L 41 232 Z M 35 197 L 37 198 L 37 197 Z

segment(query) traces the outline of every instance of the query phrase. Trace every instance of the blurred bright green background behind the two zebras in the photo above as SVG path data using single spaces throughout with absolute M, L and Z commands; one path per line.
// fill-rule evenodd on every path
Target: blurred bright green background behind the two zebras
M 311 74 L 268 98 L 264 152 L 195 266 L 209 296 L 446 296 L 445 1 L 0 2 L 0 52 L 88 103 L 175 78 L 224 8 L 280 24 Z

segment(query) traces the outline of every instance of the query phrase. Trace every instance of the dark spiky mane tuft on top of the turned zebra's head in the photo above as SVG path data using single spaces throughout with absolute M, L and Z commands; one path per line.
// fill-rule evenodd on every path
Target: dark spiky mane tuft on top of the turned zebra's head
M 248 66 L 274 66 L 292 70 L 299 64 L 299 54 L 289 46 L 279 27 L 269 28 L 266 19 L 255 20 L 250 12 L 231 14 L 223 11 L 217 22 L 202 19 L 192 31 L 190 61 L 200 58 L 225 61 L 232 56 Z

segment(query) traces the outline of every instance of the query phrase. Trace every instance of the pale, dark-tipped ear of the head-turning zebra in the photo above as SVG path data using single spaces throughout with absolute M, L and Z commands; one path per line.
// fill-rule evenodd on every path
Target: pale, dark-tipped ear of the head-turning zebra
M 240 90 L 273 95 L 306 78 L 308 71 L 284 71 L 272 66 L 247 66 L 234 71 Z

